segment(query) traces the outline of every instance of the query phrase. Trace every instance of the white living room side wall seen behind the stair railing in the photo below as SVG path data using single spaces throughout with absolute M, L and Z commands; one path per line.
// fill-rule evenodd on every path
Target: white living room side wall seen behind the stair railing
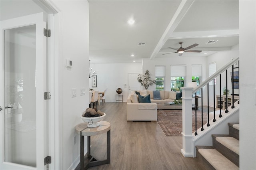
M 230 62 L 232 59 L 235 59 L 239 57 L 239 44 L 234 45 L 230 51 L 221 51 L 214 53 L 207 57 L 207 77 L 209 75 L 208 73 L 208 66 L 210 63 L 216 62 L 216 71 L 221 69 L 224 65 L 226 65 L 228 62 Z M 228 90 L 230 90 L 229 94 L 232 94 L 232 84 L 231 84 L 231 75 L 230 72 L 232 72 L 232 67 L 228 69 Z M 224 71 L 221 74 L 221 95 L 222 95 L 222 89 L 226 86 L 226 71 Z M 209 85 L 209 91 L 213 91 L 213 86 Z M 216 85 L 215 85 L 215 94 L 220 95 L 220 77 L 218 76 L 216 78 Z M 236 89 L 234 90 L 234 94 L 236 94 Z M 213 99 L 213 93 L 209 93 L 209 99 Z M 214 106 L 213 100 L 209 101 L 210 106 Z

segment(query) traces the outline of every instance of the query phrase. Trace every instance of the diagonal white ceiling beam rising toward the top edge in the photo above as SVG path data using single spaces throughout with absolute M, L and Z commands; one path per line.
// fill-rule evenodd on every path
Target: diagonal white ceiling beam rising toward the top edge
M 178 9 L 176 10 L 174 16 L 172 17 L 172 20 L 168 24 L 166 30 L 164 31 L 164 34 L 162 35 L 162 37 L 160 38 L 154 51 L 152 52 L 152 54 L 150 56 L 150 60 L 154 59 L 156 57 L 158 51 L 160 51 L 160 49 L 162 48 L 164 43 L 168 40 L 168 38 L 170 37 L 170 34 L 173 33 L 173 31 L 178 26 L 178 24 L 180 23 L 182 18 L 185 16 L 186 12 L 191 7 L 193 2 L 194 2 L 194 0 L 182 0 L 180 2 Z

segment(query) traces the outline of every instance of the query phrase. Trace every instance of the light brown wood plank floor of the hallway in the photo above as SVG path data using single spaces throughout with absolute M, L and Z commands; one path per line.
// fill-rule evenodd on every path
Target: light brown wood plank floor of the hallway
M 126 103 L 98 106 L 111 123 L 111 163 L 89 170 L 200 170 L 196 158 L 185 158 L 182 136 L 164 136 L 157 122 L 127 122 Z M 106 133 L 91 136 L 91 154 L 106 159 Z

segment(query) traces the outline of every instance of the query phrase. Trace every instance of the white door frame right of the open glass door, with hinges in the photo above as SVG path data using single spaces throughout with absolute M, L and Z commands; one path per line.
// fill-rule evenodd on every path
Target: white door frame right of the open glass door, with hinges
M 48 29 L 51 37 L 48 41 L 48 91 L 52 99 L 48 101 L 48 154 L 52 157 L 52 163 L 48 164 L 49 170 L 63 169 L 63 135 L 62 135 L 62 111 L 63 111 L 63 59 L 62 59 L 62 12 L 52 0 L 32 0 L 48 14 Z M 4 63 L 2 63 L 3 68 Z M 3 73 L 0 77 L 4 77 Z M 4 88 L 4 87 L 3 87 Z M 3 91 L 3 89 L 0 89 Z M 2 115 L 1 115 L 2 116 Z M 2 127 L 1 127 L 2 128 Z

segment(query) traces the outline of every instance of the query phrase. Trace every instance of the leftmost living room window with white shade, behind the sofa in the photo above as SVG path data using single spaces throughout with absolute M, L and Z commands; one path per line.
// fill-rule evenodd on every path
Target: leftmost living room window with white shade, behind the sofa
M 165 77 L 165 66 L 156 65 L 155 66 L 156 75 L 156 90 L 164 90 L 164 77 Z

